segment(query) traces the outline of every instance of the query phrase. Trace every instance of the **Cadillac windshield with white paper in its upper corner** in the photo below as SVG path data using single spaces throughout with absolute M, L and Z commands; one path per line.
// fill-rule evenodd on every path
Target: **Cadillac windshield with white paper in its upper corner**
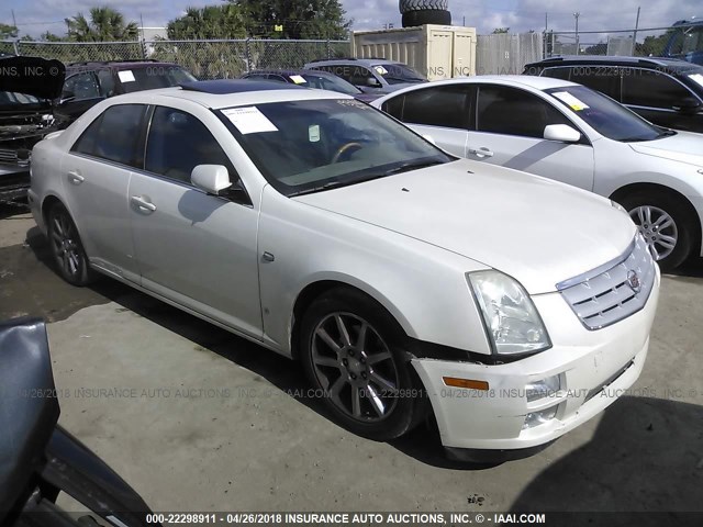
M 354 99 L 272 102 L 219 113 L 268 182 L 289 197 L 454 159 Z

